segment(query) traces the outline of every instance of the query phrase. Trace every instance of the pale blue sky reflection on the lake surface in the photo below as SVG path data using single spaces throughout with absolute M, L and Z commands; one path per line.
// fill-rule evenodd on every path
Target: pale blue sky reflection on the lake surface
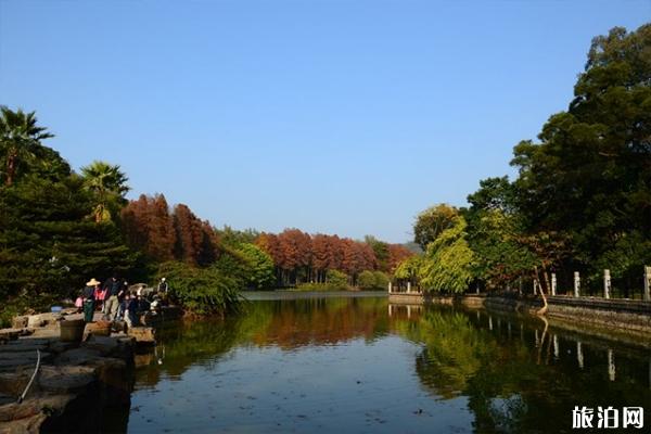
M 436 401 L 413 372 L 418 346 L 239 347 L 214 367 L 133 394 L 129 432 L 469 432 L 465 398 Z

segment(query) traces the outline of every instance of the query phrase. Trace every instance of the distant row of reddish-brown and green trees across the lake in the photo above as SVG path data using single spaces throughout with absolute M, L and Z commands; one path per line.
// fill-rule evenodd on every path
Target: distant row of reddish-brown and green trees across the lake
M 279 234 L 229 227 L 220 230 L 197 218 L 186 205 L 170 208 L 163 194 L 141 195 L 129 202 L 122 210 L 120 226 L 127 244 L 157 263 L 178 260 L 193 267 L 218 263 L 227 273 L 225 255 L 235 263 L 257 263 L 258 271 L 263 264 L 271 264 L 273 279 L 248 282 L 257 289 L 326 283 L 328 271 L 332 270 L 345 273 L 347 283 L 355 286 L 360 272 L 388 275 L 413 255 L 401 244 L 385 243 L 371 235 L 355 241 L 321 233 L 310 235 L 298 229 L 285 229 Z

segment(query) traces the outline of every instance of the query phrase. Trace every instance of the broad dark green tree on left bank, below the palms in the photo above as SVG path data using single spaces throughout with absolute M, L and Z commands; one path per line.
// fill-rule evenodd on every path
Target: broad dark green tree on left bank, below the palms
M 130 277 L 139 256 L 118 228 L 87 217 L 81 180 L 33 178 L 0 188 L 0 296 L 74 295 L 89 277 Z

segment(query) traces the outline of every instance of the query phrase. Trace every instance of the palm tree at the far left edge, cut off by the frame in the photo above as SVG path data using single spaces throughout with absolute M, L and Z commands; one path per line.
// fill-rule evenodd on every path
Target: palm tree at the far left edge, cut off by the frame
M 36 124 L 36 112 L 25 113 L 21 108 L 14 112 L 4 105 L 0 106 L 0 155 L 7 158 L 7 186 L 14 182 L 21 163 L 36 157 L 40 141 L 54 137 L 47 128 Z

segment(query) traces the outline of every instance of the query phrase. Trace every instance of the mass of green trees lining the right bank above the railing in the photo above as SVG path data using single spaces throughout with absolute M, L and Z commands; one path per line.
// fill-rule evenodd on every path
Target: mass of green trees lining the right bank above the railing
M 462 280 L 486 289 L 536 280 L 549 293 L 552 271 L 561 288 L 580 271 L 596 292 L 610 269 L 624 295 L 641 288 L 651 263 L 650 51 L 651 25 L 595 38 L 569 108 L 549 118 L 538 142 L 514 148 L 518 178 L 482 180 L 468 208 L 437 205 L 419 215 L 414 241 L 426 253 L 417 270 L 411 259 L 396 278 L 435 289 L 455 269 L 463 279 L 443 284 L 449 291 Z M 438 240 L 457 215 L 468 224 L 457 245 L 464 253 L 451 255 Z

